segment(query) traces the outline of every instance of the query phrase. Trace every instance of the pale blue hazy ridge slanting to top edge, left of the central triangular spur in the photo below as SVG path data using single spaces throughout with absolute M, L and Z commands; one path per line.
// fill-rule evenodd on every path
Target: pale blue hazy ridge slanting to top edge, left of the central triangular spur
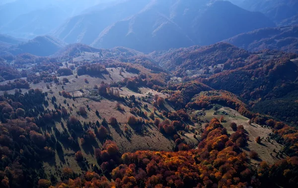
M 129 0 L 74 16 L 63 23 L 54 36 L 67 43 L 91 44 L 106 27 L 136 14 L 149 1 Z

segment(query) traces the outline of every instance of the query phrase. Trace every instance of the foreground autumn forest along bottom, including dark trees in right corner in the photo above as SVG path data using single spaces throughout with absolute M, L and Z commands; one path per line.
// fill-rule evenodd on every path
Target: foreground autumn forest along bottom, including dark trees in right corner
M 198 149 L 124 153 L 120 165 L 109 169 L 111 181 L 97 173 L 86 172 L 56 187 L 297 187 L 298 157 L 288 157 L 274 165 L 263 161 L 259 169 L 252 168 L 247 163 L 247 154 L 240 149 L 247 144 L 247 138 L 241 127 L 229 137 L 220 121 L 213 119 Z M 102 151 L 96 153 L 101 156 Z

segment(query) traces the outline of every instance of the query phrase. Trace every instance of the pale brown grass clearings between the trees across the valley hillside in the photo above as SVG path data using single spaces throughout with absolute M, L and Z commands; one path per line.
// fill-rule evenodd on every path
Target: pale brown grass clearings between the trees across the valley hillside
M 175 143 L 172 140 L 172 138 L 169 138 L 163 135 L 162 133 L 160 133 L 158 128 L 154 126 L 152 123 L 146 125 L 141 133 L 135 132 L 134 129 L 127 124 L 128 117 L 133 115 L 130 113 L 130 108 L 128 106 L 122 103 L 121 106 L 123 107 L 123 110 L 118 111 L 115 109 L 115 105 L 117 103 L 117 101 L 115 100 L 102 98 L 99 101 L 94 101 L 90 98 L 84 97 L 84 94 L 88 93 L 88 90 L 92 89 L 94 85 L 99 85 L 102 81 L 104 81 L 105 83 L 111 83 L 111 82 L 121 81 L 126 77 L 137 76 L 137 74 L 132 74 L 126 71 L 122 73 L 123 76 L 120 76 L 119 75 L 120 68 L 108 68 L 107 70 L 111 75 L 110 77 L 108 75 L 103 75 L 102 77 L 91 77 L 88 75 L 83 75 L 83 76 L 79 76 L 78 78 L 75 78 L 74 75 L 61 76 L 59 77 L 60 81 L 62 81 L 63 78 L 68 78 L 70 82 L 64 85 L 53 84 L 53 86 L 50 87 L 50 89 L 46 88 L 46 83 L 40 82 L 38 84 L 30 84 L 30 88 L 32 89 L 38 88 L 38 89 L 42 89 L 43 92 L 48 92 L 48 97 L 50 100 L 51 100 L 51 97 L 55 95 L 57 99 L 56 103 L 58 105 L 61 104 L 67 107 L 67 103 L 68 103 L 69 107 L 67 107 L 67 109 L 70 113 L 70 116 L 76 116 L 77 119 L 80 120 L 82 124 L 83 122 L 86 122 L 86 123 L 91 122 L 92 126 L 96 126 L 94 125 L 95 122 L 99 121 L 101 123 L 103 118 L 105 118 L 107 121 L 109 121 L 110 117 L 117 118 L 117 121 L 119 123 L 118 126 L 112 127 L 111 125 L 108 125 L 108 132 L 109 132 L 110 138 L 112 138 L 112 140 L 117 143 L 121 152 L 133 152 L 137 150 L 172 151 L 173 148 L 175 147 Z M 85 83 L 84 79 L 87 79 L 88 83 Z M 0 84 L 4 84 L 4 83 L 5 82 Z M 63 91 L 63 88 L 66 92 L 69 92 L 71 95 L 74 95 L 76 98 L 73 100 L 72 98 L 65 98 L 59 95 L 58 93 Z M 24 89 L 22 91 L 27 92 L 27 90 L 24 90 Z M 139 88 L 139 91 L 140 93 L 136 93 L 124 87 L 119 90 L 119 93 L 121 96 L 124 96 L 124 97 L 135 95 L 136 98 L 141 98 L 141 97 L 152 98 L 152 96 L 154 96 L 155 94 L 163 98 L 169 97 L 168 94 L 158 93 L 149 88 L 142 87 L 142 88 Z M 13 94 L 14 90 L 10 90 L 8 91 L 8 93 Z M 0 92 L 0 94 L 3 94 L 3 92 Z M 66 103 L 64 103 L 64 100 L 66 100 Z M 144 106 L 145 103 L 148 105 L 148 109 L 146 110 L 142 107 L 141 110 L 144 112 L 147 111 L 149 116 L 149 114 L 153 111 L 153 105 L 151 103 L 142 101 L 142 106 Z M 80 116 L 76 113 L 76 111 L 80 106 L 84 106 L 87 109 L 86 107 L 87 105 L 89 106 L 90 110 L 87 110 L 86 116 Z M 70 110 L 70 107 L 73 108 L 73 111 Z M 47 108 L 54 109 L 54 105 L 49 101 L 49 106 L 47 106 Z M 99 117 L 97 117 L 95 114 L 96 110 L 98 110 L 99 112 Z M 159 112 L 161 110 L 174 111 L 174 109 L 168 103 L 165 103 L 163 109 L 158 109 L 158 110 Z M 211 110 L 204 111 L 206 115 L 202 116 L 201 119 L 207 122 L 207 120 L 210 121 L 214 117 L 220 119 L 221 116 L 224 116 L 224 122 L 222 122 L 222 124 L 227 129 L 229 134 L 232 134 L 234 132 L 230 128 L 231 122 L 235 122 L 237 125 L 243 125 L 245 131 L 249 136 L 248 145 L 243 149 L 243 151 L 249 153 L 250 150 L 255 150 L 259 154 L 259 160 L 256 161 L 252 159 L 251 163 L 258 165 L 259 161 L 266 160 L 267 162 L 272 164 L 279 159 L 278 157 L 276 157 L 276 153 L 274 152 L 274 150 L 275 151 L 281 150 L 282 145 L 278 144 L 276 141 L 273 141 L 273 140 L 269 142 L 269 140 L 266 139 L 268 137 L 268 134 L 272 132 L 271 129 L 264 128 L 256 124 L 249 125 L 248 124 L 249 119 L 243 117 L 237 111 L 231 108 L 223 107 L 218 111 L 225 111 L 227 112 L 227 115 L 214 115 L 215 110 L 211 109 Z M 159 112 L 157 111 L 154 114 L 154 116 L 162 120 L 163 117 L 159 116 Z M 191 116 L 193 116 L 193 114 L 191 114 Z M 143 117 L 143 118 L 150 120 L 149 117 Z M 62 123 L 66 125 L 67 119 L 62 120 Z M 187 124 L 187 125 L 193 131 L 183 132 L 183 134 L 180 136 L 187 143 L 197 145 L 198 140 L 194 139 L 193 136 L 194 136 L 194 132 L 198 132 L 200 134 L 200 131 L 202 130 L 202 125 L 201 124 L 191 124 L 191 125 Z M 52 125 L 52 126 L 56 126 L 56 128 L 60 132 L 63 131 L 61 123 L 56 123 L 55 125 Z M 125 126 L 129 128 L 129 133 L 125 133 L 124 131 Z M 94 127 L 90 127 L 91 130 L 93 130 L 93 128 Z M 49 132 L 44 128 L 42 130 L 43 132 Z M 50 134 L 55 135 L 53 130 L 50 132 Z M 255 138 L 258 136 L 262 138 L 261 144 L 258 144 L 255 142 Z M 199 136 L 197 138 L 199 139 Z M 79 141 L 79 138 L 77 138 L 77 140 Z M 92 164 L 97 163 L 94 157 L 94 149 L 98 147 L 101 148 L 102 144 L 103 144 L 103 141 L 99 141 L 98 139 L 96 139 L 96 143 L 89 145 L 87 148 L 86 146 L 82 146 L 81 144 L 79 144 L 80 150 L 83 152 L 83 155 L 88 161 L 88 164 L 89 164 L 88 168 L 91 168 Z M 63 143 L 62 143 L 62 146 L 64 151 L 63 157 L 59 156 L 56 153 L 55 159 L 53 159 L 52 161 L 44 162 L 44 168 L 46 170 L 46 173 L 51 174 L 51 172 L 55 172 L 58 169 L 58 171 L 54 175 L 59 177 L 64 167 L 70 167 L 75 172 L 82 173 L 83 169 L 81 169 L 81 166 L 74 160 L 75 151 L 66 147 L 65 145 L 63 145 Z

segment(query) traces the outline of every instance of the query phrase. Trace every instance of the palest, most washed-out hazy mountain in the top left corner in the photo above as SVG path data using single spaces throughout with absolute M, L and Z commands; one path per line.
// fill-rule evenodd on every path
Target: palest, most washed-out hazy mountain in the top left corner
M 32 39 L 84 9 L 116 0 L 15 0 L 0 5 L 0 32 Z

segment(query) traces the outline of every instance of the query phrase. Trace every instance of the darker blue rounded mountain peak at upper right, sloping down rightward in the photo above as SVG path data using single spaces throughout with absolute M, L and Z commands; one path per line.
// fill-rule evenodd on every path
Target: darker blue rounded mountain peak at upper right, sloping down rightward
M 216 1 L 199 14 L 193 28 L 200 45 L 210 45 L 234 35 L 275 26 L 259 12 L 244 10 L 228 1 Z

